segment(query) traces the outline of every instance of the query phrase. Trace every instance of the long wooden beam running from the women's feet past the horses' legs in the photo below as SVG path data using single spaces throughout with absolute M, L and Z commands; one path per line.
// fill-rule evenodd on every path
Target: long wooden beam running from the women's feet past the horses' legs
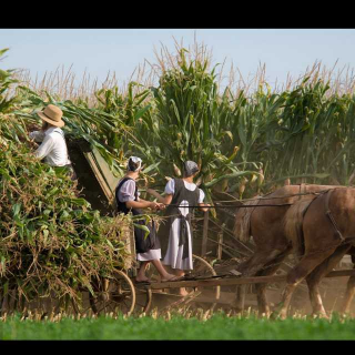
M 339 270 L 332 271 L 325 277 L 342 277 L 342 276 L 355 276 L 355 270 Z M 286 282 L 287 275 L 273 275 L 273 276 L 254 276 L 254 277 L 229 277 L 229 278 L 210 278 L 197 281 L 169 281 L 152 283 L 150 287 L 152 290 L 159 288 L 176 288 L 176 287 L 210 287 L 210 286 L 226 286 L 226 285 L 246 285 L 246 284 L 263 284 L 274 282 Z

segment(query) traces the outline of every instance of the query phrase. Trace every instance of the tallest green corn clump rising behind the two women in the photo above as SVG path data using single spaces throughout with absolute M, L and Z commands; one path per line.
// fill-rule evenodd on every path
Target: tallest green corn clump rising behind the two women
M 184 49 L 179 53 L 179 63 L 165 70 L 158 88 L 151 88 L 155 103 L 153 120 L 146 115 L 142 119 L 154 144 L 148 146 L 143 142 L 141 153 L 162 162 L 159 170 L 162 176 L 179 176 L 184 161 L 197 162 L 201 166 L 197 184 L 211 200 L 210 190 L 219 183 L 255 171 L 243 171 L 233 164 L 236 146 L 222 152 L 223 144 L 232 143 L 233 134 L 225 129 L 231 113 L 227 101 L 219 98 L 215 68 L 209 70 L 207 59 L 189 62 Z

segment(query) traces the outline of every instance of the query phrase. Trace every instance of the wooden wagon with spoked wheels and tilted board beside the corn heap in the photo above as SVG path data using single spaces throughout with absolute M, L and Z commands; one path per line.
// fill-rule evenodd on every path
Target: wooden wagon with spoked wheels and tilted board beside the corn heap
M 100 210 L 102 214 L 112 214 L 114 190 L 118 183 L 106 162 L 102 159 L 97 149 L 90 146 L 84 140 L 75 140 L 68 142 L 70 158 L 73 168 L 78 175 L 79 189 L 82 190 L 85 199 L 94 209 Z M 151 288 L 144 285 L 135 284 L 136 262 L 134 248 L 134 232 L 133 229 L 126 229 L 125 247 L 131 255 L 125 262 L 122 270 L 116 270 L 113 275 L 106 275 L 100 280 L 90 282 L 90 285 L 81 286 L 82 292 L 81 305 L 71 304 L 67 310 L 74 314 L 125 314 L 130 315 L 133 312 L 148 312 L 152 305 L 153 295 L 156 298 L 162 296 L 165 303 L 173 305 L 178 303 L 193 303 L 192 297 L 181 297 L 170 290 L 174 288 L 166 284 L 166 287 Z M 193 255 L 194 271 L 186 277 L 209 277 L 216 276 L 213 267 L 202 257 Z M 154 280 L 154 270 L 149 270 L 151 278 Z M 158 278 L 155 278 L 159 282 Z M 193 294 L 196 296 L 204 295 L 219 298 L 220 287 L 193 287 Z M 155 298 L 154 297 L 154 298 Z M 194 297 L 195 298 L 195 297 Z M 168 301 L 166 301 L 168 300 Z M 195 301 L 197 302 L 197 301 Z

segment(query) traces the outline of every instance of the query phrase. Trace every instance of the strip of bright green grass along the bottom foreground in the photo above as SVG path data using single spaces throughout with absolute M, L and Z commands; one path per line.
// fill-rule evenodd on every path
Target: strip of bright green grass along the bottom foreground
M 206 321 L 173 316 L 64 318 L 0 322 L 0 339 L 355 339 L 355 321 L 268 321 L 213 315 Z

